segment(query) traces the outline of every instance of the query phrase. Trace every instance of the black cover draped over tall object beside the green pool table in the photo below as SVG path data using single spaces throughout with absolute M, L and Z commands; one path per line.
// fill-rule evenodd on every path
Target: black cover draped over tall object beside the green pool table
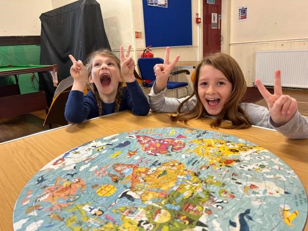
M 86 56 L 98 48 L 110 45 L 104 29 L 100 5 L 95 0 L 78 0 L 42 13 L 41 65 L 58 65 L 58 81 L 70 76 L 72 62 L 85 61 Z M 56 87 L 49 73 L 39 73 L 40 90 L 44 90 L 48 105 Z

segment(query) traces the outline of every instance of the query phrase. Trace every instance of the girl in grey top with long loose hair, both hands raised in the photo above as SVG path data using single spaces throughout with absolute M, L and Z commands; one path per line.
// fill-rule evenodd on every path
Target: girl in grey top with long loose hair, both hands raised
M 296 99 L 282 94 L 280 71 L 275 72 L 274 94 L 256 85 L 266 100 L 268 108 L 252 103 L 242 103 L 246 92 L 244 75 L 237 62 L 224 53 L 207 55 L 196 67 L 194 91 L 185 98 L 165 97 L 165 86 L 179 56 L 169 64 L 169 48 L 166 48 L 164 64 L 154 67 L 155 83 L 149 94 L 150 107 L 159 112 L 176 112 L 173 121 L 183 121 L 214 116 L 212 127 L 242 129 L 251 125 L 272 128 L 291 139 L 308 139 L 308 118 L 297 110 Z M 231 121 L 223 125 L 223 120 Z

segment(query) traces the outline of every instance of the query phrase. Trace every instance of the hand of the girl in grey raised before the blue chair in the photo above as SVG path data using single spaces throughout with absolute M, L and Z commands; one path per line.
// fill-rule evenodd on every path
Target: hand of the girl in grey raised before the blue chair
M 169 63 L 169 53 L 170 53 L 170 48 L 166 47 L 163 64 L 156 64 L 154 66 L 154 73 L 156 76 L 156 81 L 154 84 L 155 94 L 159 93 L 166 87 L 170 73 L 180 58 L 180 56 L 178 55 L 174 58 L 174 60 L 171 63 Z

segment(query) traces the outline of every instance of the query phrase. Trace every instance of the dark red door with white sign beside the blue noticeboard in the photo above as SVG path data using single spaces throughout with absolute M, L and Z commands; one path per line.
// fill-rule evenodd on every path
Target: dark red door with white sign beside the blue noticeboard
M 221 15 L 222 0 L 203 0 L 203 56 L 220 52 Z

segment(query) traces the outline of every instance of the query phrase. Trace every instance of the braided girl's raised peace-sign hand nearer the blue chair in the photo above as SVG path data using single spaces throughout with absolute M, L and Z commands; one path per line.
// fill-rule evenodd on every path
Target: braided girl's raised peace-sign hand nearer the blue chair
M 120 47 L 121 74 L 125 82 L 133 82 L 136 80 L 134 76 L 135 61 L 130 57 L 132 46 L 129 45 L 124 55 L 123 46 Z

